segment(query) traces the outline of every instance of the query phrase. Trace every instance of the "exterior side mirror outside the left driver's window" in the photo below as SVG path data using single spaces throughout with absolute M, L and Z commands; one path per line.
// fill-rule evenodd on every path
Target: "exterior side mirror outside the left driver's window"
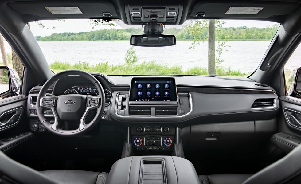
M 0 66 L 0 99 L 20 93 L 21 80 L 16 73 L 14 69 Z

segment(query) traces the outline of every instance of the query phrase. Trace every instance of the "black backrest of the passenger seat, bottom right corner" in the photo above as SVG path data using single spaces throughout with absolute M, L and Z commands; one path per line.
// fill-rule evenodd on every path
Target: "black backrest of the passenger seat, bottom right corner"
M 243 184 L 301 183 L 301 144 L 285 157 L 248 178 Z

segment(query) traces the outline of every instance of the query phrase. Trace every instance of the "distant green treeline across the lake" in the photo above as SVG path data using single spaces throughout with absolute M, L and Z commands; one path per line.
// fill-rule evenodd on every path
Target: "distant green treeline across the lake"
M 215 33 L 215 37 L 220 40 L 270 40 L 274 37 L 278 25 L 266 28 L 226 27 Z M 50 36 L 36 36 L 37 41 L 99 41 L 99 40 L 129 40 L 133 34 L 143 34 L 142 29 L 100 29 L 90 32 L 79 33 L 53 33 Z M 194 36 L 187 28 L 176 29 L 166 28 L 163 34 L 175 35 L 177 40 L 193 40 Z M 201 39 L 206 39 L 208 29 L 197 35 Z

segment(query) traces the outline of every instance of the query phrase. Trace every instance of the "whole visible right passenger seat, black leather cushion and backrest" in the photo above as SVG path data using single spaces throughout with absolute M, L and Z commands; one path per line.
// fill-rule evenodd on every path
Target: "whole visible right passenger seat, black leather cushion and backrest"
M 256 174 L 199 175 L 201 184 L 301 183 L 301 144 Z

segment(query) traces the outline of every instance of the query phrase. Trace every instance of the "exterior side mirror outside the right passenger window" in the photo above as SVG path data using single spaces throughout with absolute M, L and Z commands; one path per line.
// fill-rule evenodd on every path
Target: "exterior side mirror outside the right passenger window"
M 291 72 L 287 81 L 287 95 L 301 97 L 301 68 Z

